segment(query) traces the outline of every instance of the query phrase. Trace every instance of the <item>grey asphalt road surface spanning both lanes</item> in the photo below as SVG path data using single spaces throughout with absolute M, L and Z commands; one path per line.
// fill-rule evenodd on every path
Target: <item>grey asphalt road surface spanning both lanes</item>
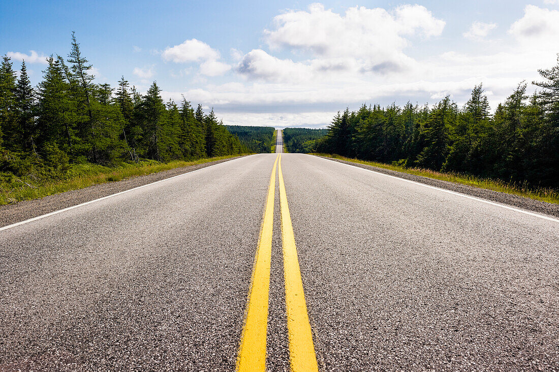
M 278 157 L 0 231 L 0 370 L 242 369 L 266 267 L 268 370 L 290 370 L 301 345 L 309 370 L 559 369 L 558 220 Z

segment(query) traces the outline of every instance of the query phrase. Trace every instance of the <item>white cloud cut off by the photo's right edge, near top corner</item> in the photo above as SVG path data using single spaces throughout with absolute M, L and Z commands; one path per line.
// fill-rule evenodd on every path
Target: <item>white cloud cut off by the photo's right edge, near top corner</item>
M 516 37 L 524 46 L 559 50 L 559 11 L 528 5 L 524 16 L 514 22 L 509 34 Z

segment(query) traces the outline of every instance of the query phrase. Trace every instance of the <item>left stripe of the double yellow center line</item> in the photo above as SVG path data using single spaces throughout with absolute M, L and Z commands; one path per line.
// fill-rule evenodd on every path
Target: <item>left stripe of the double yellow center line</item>
M 272 227 L 274 219 L 274 198 L 276 193 L 276 166 L 274 161 L 266 211 L 260 231 L 260 241 L 254 261 L 252 287 L 247 307 L 247 318 L 243 329 L 243 338 L 239 350 L 237 370 L 265 371 L 266 370 L 266 332 L 268 328 L 268 290 L 270 286 L 270 261 L 272 256 Z

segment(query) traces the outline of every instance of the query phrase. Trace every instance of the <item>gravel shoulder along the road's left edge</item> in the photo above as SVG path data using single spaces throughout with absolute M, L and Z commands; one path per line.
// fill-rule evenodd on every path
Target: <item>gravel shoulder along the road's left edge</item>
M 22 201 L 17 204 L 0 206 L 0 227 L 11 225 L 12 223 L 17 223 L 20 221 L 25 221 L 29 218 L 41 216 L 42 214 L 76 206 L 77 204 L 86 203 L 98 198 L 106 197 L 108 195 L 130 190 L 135 187 L 143 186 L 149 183 L 157 182 L 159 180 L 174 177 L 176 175 L 188 173 L 194 170 L 206 168 L 211 165 L 224 163 L 225 161 L 239 159 L 242 157 L 243 156 L 236 156 L 235 158 L 209 161 L 208 163 L 164 170 L 161 172 L 132 177 L 117 182 L 107 182 L 98 185 L 92 185 L 83 189 L 70 190 L 64 193 L 49 195 L 44 198 Z

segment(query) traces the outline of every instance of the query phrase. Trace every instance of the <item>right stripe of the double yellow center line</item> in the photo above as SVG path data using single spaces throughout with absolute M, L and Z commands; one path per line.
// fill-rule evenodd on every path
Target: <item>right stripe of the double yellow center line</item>
M 291 216 L 287 206 L 285 185 L 281 171 L 281 155 L 278 166 L 280 173 L 280 207 L 281 227 L 283 241 L 283 272 L 285 276 L 285 299 L 287 308 L 287 331 L 289 333 L 289 354 L 291 370 L 293 372 L 318 371 L 314 344 L 312 343 L 312 331 L 307 314 L 303 282 L 299 260 L 297 260 L 297 248 L 295 246 L 295 235 L 291 225 Z

